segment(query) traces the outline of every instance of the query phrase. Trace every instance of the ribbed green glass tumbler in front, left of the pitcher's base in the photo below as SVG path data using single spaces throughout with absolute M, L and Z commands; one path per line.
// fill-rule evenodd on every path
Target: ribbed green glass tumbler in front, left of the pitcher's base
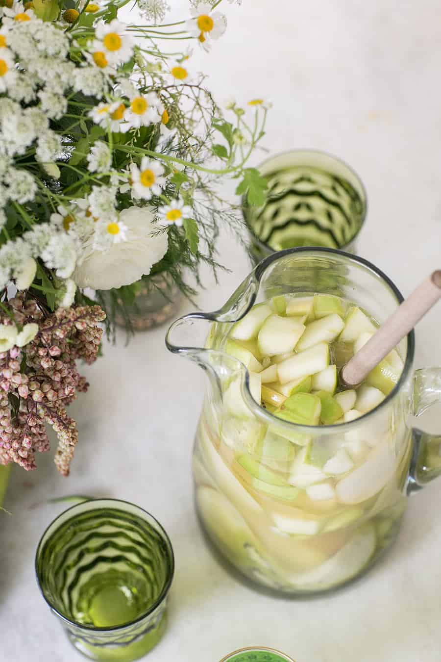
M 36 552 L 40 590 L 71 643 L 103 661 L 130 662 L 158 643 L 174 567 L 159 522 L 114 499 L 63 512 Z

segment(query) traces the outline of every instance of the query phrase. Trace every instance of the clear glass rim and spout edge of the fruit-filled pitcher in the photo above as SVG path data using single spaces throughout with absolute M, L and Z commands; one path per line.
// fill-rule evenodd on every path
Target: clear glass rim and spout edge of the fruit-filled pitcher
M 360 256 L 355 256 L 350 253 L 346 253 L 342 250 L 339 250 L 337 248 L 322 248 L 321 246 L 302 246 L 301 248 L 286 248 L 286 250 L 278 251 L 275 253 L 272 253 L 271 255 L 267 256 L 264 258 L 259 264 L 255 266 L 255 268 L 250 272 L 250 274 L 247 276 L 247 279 L 254 274 L 255 279 L 257 283 L 261 282 L 262 276 L 264 275 L 266 269 L 272 265 L 272 263 L 276 260 L 280 260 L 281 258 L 284 258 L 289 255 L 301 255 L 301 254 L 319 254 L 319 255 L 335 255 L 335 256 L 340 256 L 342 258 L 346 258 L 348 261 L 352 261 L 353 263 L 360 264 L 364 267 L 367 267 L 371 271 L 374 272 L 377 276 L 381 278 L 381 280 L 391 289 L 393 295 L 395 296 L 395 299 L 397 299 L 398 305 L 403 303 L 404 297 L 395 285 L 393 281 L 387 276 L 379 267 L 376 267 L 372 262 L 369 260 L 366 260 L 366 258 L 361 258 Z M 240 287 L 240 285 L 239 285 Z M 231 295 L 232 297 L 233 295 Z M 236 320 L 231 320 L 231 324 L 234 324 L 238 320 L 242 319 L 245 317 L 247 312 L 251 310 L 253 307 L 255 300 L 256 300 L 257 293 L 253 293 L 249 305 L 247 307 L 247 310 L 243 312 L 243 314 L 238 317 Z M 230 297 L 230 298 L 231 298 Z M 194 351 L 198 350 L 201 354 L 210 354 L 212 352 L 216 352 L 217 354 L 224 354 L 225 356 L 229 357 L 229 354 L 223 350 L 212 350 L 209 348 L 190 348 L 190 347 L 176 347 L 173 346 L 169 342 L 169 333 L 171 329 L 175 326 L 175 324 L 178 324 L 180 321 L 185 320 L 185 319 L 203 319 L 207 320 L 210 322 L 216 322 L 218 321 L 218 315 L 220 314 L 220 310 L 214 310 L 213 312 L 193 312 L 188 315 L 184 315 L 180 317 L 172 326 L 169 328 L 169 331 L 167 332 L 166 336 L 166 345 L 167 348 L 171 352 L 176 352 L 176 353 L 186 353 L 186 351 Z M 238 363 L 242 365 L 242 373 L 243 373 L 243 378 L 242 378 L 242 395 L 245 399 L 245 402 L 251 412 L 254 412 L 259 416 L 261 420 L 266 420 L 268 424 L 277 424 L 278 426 L 282 426 L 283 428 L 289 429 L 289 430 L 298 430 L 299 432 L 302 432 L 303 434 L 317 434 L 317 430 L 320 431 L 321 434 L 333 434 L 337 431 L 337 429 L 341 432 L 345 432 L 349 428 L 354 428 L 357 424 L 360 424 L 360 422 L 364 422 L 368 419 L 368 417 L 373 416 L 376 414 L 378 411 L 381 410 L 381 408 L 387 406 L 393 398 L 399 393 L 400 389 L 403 387 L 405 384 L 405 381 L 407 380 L 407 377 L 409 373 L 411 372 L 412 366 L 413 366 L 413 359 L 415 355 L 415 332 L 412 330 L 409 334 L 407 334 L 407 350 L 406 350 L 406 358 L 405 358 L 405 363 L 403 366 L 403 371 L 401 372 L 401 375 L 399 377 L 399 380 L 397 381 L 397 384 L 395 387 L 392 389 L 392 391 L 385 397 L 385 399 L 380 402 L 374 409 L 371 409 L 370 411 L 366 412 L 366 414 L 362 414 L 362 416 L 359 416 L 355 420 L 348 421 L 346 423 L 339 423 L 338 425 L 321 425 L 321 426 L 310 426 L 310 425 L 301 425 L 298 423 L 292 423 L 289 421 L 284 421 L 282 418 L 278 418 L 277 416 L 274 416 L 274 414 L 271 414 L 268 412 L 266 409 L 264 409 L 260 404 L 258 404 L 253 396 L 251 395 L 251 391 L 249 388 L 249 370 L 248 368 L 239 361 L 239 359 L 236 359 Z M 230 357 L 233 358 L 233 357 Z

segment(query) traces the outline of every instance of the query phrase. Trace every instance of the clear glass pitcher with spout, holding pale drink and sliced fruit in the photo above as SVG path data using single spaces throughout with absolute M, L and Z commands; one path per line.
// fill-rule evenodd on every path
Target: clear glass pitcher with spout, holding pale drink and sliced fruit
M 295 248 L 259 263 L 220 310 L 177 320 L 167 347 L 208 376 L 193 457 L 196 507 L 208 537 L 255 583 L 311 594 L 372 566 L 397 537 L 406 496 L 441 473 L 441 437 L 409 426 L 411 414 L 441 400 L 441 368 L 413 371 L 412 332 L 397 348 L 404 362 L 399 382 L 376 408 L 338 425 L 280 420 L 253 399 L 247 368 L 225 344 L 233 323 L 255 303 L 287 293 L 344 297 L 379 324 L 403 301 L 389 278 L 362 258 Z M 323 465 L 348 444 L 355 464 L 327 477 L 333 498 L 313 501 L 290 484 L 290 467 L 305 448 Z

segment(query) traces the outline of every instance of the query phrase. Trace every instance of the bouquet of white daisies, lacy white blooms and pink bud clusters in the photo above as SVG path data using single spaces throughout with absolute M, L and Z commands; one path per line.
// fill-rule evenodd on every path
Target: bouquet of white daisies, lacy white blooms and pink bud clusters
M 225 177 L 262 204 L 249 156 L 268 106 L 231 102 L 231 121 L 192 70 L 190 40 L 208 50 L 226 19 L 192 3 L 186 21 L 139 0 L 145 23 L 87 0 L 3 0 L 0 21 L 0 463 L 34 469 L 49 447 L 69 473 L 77 443 L 66 406 L 87 383 L 105 319 L 128 320 L 140 281 L 214 269 Z M 163 48 L 162 44 L 173 48 Z M 251 115 L 251 118 L 247 117 Z M 129 321 L 128 321 L 129 324 Z

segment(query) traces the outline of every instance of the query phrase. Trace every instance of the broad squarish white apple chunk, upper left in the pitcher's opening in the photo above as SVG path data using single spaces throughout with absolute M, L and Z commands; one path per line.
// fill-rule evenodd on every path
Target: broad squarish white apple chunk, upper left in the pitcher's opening
M 262 356 L 274 356 L 293 352 L 305 330 L 296 317 L 270 315 L 262 324 L 257 336 L 257 346 Z

